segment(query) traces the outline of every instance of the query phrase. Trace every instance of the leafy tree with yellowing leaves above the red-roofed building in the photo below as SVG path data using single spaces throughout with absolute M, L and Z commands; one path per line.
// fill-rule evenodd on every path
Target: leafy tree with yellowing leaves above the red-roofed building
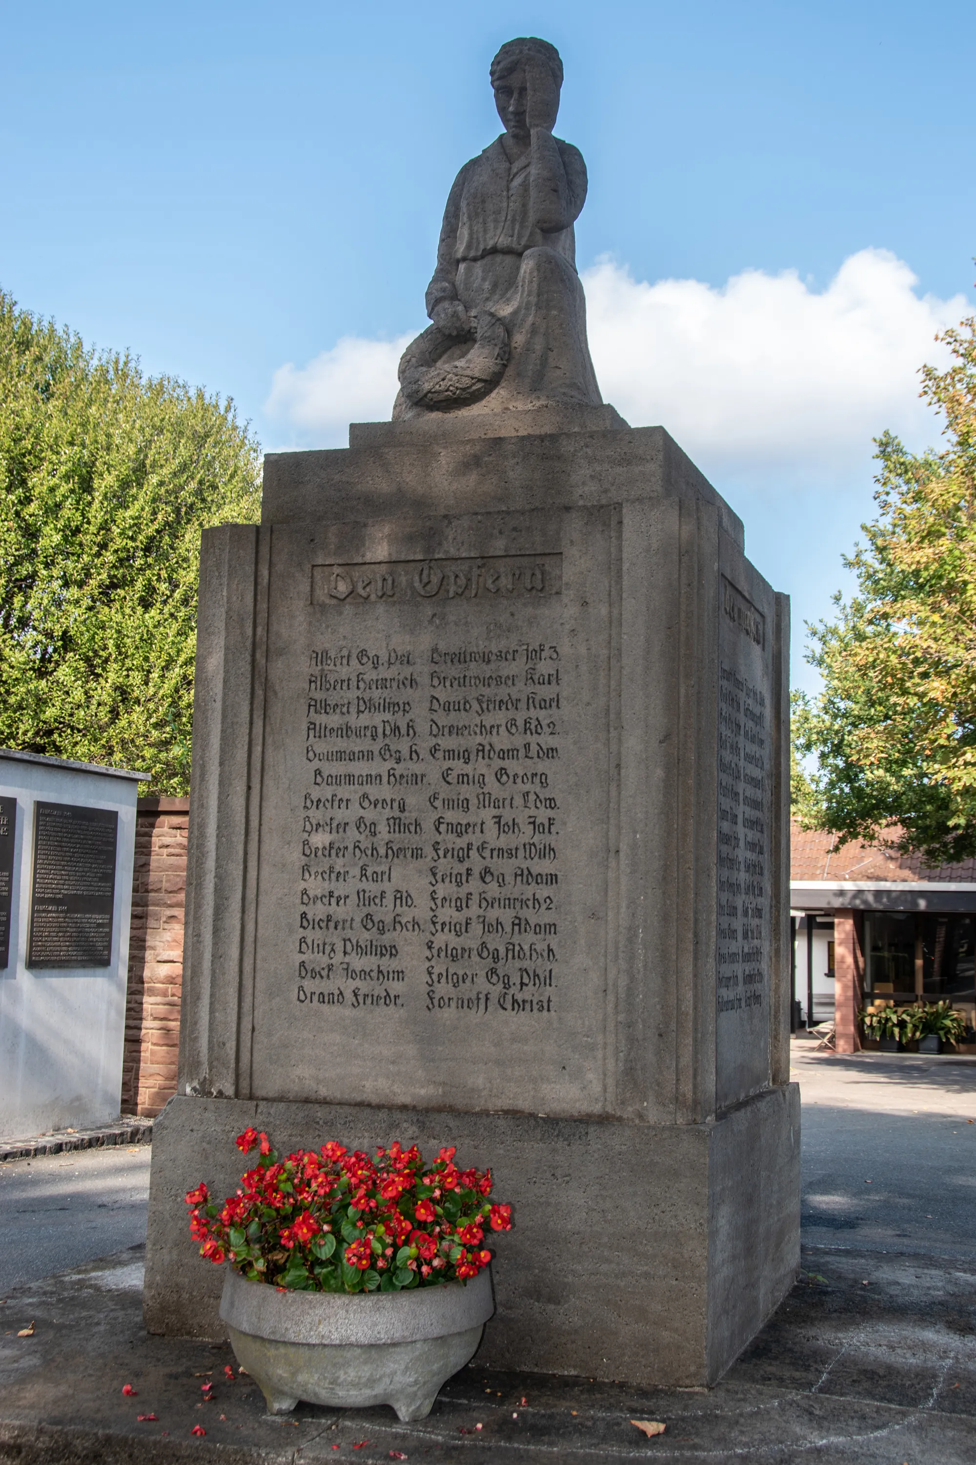
M 954 360 L 922 369 L 922 397 L 948 445 L 876 440 L 878 517 L 846 560 L 859 593 L 811 627 L 824 691 L 796 708 L 819 762 L 808 826 L 932 863 L 976 854 L 976 318 L 941 338 Z

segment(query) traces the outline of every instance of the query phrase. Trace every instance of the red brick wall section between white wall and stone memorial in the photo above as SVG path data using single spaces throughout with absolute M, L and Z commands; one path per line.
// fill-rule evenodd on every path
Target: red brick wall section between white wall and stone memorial
M 176 1093 L 189 809 L 189 798 L 139 800 L 123 1113 L 157 1115 Z

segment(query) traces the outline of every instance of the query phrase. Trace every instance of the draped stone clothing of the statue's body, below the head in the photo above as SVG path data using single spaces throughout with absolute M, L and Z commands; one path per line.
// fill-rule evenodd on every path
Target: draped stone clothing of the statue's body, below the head
M 582 154 L 549 133 L 537 132 L 531 148 L 512 157 L 506 138 L 498 138 L 458 173 L 427 314 L 451 299 L 468 311 L 487 308 L 511 343 L 500 384 L 467 410 L 601 403 L 572 227 L 585 196 Z

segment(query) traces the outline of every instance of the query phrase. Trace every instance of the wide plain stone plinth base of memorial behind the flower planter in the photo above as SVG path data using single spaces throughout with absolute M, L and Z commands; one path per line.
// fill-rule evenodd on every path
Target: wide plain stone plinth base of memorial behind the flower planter
M 457 1144 L 495 1173 L 517 1225 L 498 1239 L 498 1311 L 478 1364 L 634 1384 L 713 1384 L 793 1285 L 799 1090 L 767 1090 L 701 1125 L 177 1097 L 155 1122 L 145 1318 L 225 1336 L 222 1269 L 195 1256 L 184 1193 L 233 1194 L 234 1135 L 278 1150 L 335 1138 Z

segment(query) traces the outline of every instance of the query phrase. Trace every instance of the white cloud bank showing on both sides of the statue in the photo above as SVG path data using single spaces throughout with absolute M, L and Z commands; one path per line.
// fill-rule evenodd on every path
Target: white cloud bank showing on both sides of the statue
M 964 296 L 916 294 L 884 249 L 850 255 L 821 292 L 792 270 L 746 270 L 721 289 L 648 284 L 612 261 L 584 284 L 604 400 L 634 426 L 666 426 L 718 486 L 841 485 L 863 479 L 884 428 L 935 441 L 917 368 L 941 359 L 932 337 L 970 309 Z M 350 422 L 389 418 L 411 338 L 342 337 L 307 366 L 281 366 L 268 418 L 293 445 L 344 445 Z

